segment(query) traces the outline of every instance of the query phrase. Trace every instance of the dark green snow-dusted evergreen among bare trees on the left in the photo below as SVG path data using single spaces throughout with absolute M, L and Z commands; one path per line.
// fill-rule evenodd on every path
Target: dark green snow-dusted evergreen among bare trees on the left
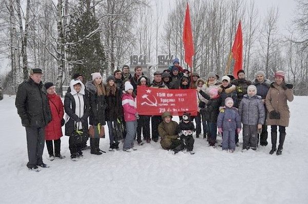
M 67 59 L 73 65 L 71 73 L 83 74 L 86 79 L 93 72 L 105 69 L 105 53 L 101 43 L 99 24 L 92 12 L 76 12 L 67 31 Z

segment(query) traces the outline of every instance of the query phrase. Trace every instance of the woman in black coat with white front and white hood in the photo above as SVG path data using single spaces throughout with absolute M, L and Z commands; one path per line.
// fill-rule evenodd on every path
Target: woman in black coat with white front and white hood
M 79 79 L 70 81 L 71 91 L 65 94 L 64 110 L 68 116 L 65 135 L 69 136 L 71 159 L 78 161 L 82 155 L 83 137 L 88 137 L 89 98 L 85 95 L 85 86 Z

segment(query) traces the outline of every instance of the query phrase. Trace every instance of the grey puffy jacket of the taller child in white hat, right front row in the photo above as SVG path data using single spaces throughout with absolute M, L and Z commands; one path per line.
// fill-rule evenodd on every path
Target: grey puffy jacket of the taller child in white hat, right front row
M 239 114 L 243 125 L 264 124 L 265 109 L 261 96 L 250 97 L 245 94 L 239 106 Z

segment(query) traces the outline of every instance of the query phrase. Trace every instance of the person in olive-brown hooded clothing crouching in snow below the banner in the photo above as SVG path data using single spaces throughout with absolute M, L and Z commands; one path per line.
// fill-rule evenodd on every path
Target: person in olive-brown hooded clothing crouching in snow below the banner
M 171 120 L 172 115 L 166 111 L 162 114 L 163 121 L 158 126 L 158 133 L 161 137 L 160 144 L 164 150 L 172 150 L 175 153 L 181 151 L 182 142 L 178 139 L 179 124 Z

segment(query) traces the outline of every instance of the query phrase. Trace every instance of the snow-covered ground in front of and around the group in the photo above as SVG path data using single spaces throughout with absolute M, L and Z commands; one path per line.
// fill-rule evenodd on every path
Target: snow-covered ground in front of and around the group
M 74 162 L 63 136 L 66 158 L 47 160 L 45 146 L 43 159 L 50 168 L 31 172 L 15 96 L 5 95 L 0 101 L 0 203 L 308 203 L 307 99 L 296 96 L 290 103 L 281 156 L 268 154 L 270 136 L 267 147 L 245 153 L 241 148 L 225 153 L 196 139 L 195 155 L 172 155 L 159 142 L 131 153 L 108 152 L 106 136 L 100 144 L 106 154 L 86 150 Z

